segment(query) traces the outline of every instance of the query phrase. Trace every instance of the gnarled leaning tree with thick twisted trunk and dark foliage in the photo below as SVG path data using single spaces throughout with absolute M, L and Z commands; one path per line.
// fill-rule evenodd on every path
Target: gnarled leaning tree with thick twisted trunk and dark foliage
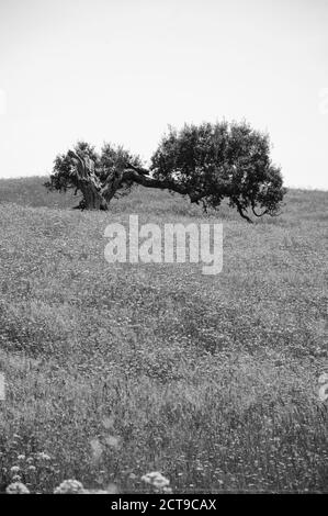
M 94 147 L 79 142 L 72 150 L 58 155 L 49 190 L 75 189 L 82 193 L 76 207 L 108 210 L 114 197 L 126 194 L 133 184 L 167 189 L 189 195 L 193 203 L 218 207 L 227 198 L 242 218 L 275 216 L 285 189 L 280 168 L 270 158 L 268 134 L 242 123 L 203 123 L 169 127 L 146 169 L 138 156 L 123 147 Z

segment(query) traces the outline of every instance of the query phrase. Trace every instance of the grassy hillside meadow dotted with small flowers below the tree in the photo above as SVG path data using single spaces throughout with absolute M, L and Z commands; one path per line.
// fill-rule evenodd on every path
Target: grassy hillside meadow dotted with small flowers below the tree
M 0 181 L 0 491 L 147 492 L 160 471 L 177 493 L 328 492 L 328 193 L 291 190 L 250 226 L 143 189 L 71 211 L 43 181 Z M 223 222 L 222 273 L 109 265 L 129 214 Z

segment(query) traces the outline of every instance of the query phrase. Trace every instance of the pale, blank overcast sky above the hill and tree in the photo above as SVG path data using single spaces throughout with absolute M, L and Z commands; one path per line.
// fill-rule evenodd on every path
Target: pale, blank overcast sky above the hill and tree
M 327 57 L 328 0 L 0 0 L 0 177 L 246 119 L 287 186 L 328 189 Z

